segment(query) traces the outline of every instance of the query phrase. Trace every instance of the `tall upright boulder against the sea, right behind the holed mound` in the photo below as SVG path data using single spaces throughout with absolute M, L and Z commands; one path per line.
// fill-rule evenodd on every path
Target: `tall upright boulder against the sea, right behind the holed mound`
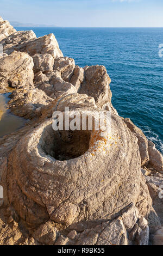
M 106 102 L 111 102 L 110 82 L 104 66 L 90 66 L 85 71 L 85 82 L 79 93 L 94 97 L 97 106 L 102 108 Z

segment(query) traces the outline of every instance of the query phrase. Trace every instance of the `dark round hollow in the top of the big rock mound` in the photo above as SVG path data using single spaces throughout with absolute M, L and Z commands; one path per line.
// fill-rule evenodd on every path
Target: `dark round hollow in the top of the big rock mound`
M 75 159 L 89 149 L 90 131 L 54 131 L 52 124 L 45 127 L 40 146 L 46 155 L 59 161 Z

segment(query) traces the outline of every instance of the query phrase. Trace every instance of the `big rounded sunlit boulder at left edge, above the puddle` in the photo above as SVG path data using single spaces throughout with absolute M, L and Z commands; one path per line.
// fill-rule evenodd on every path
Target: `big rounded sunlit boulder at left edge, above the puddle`
M 13 52 L 0 59 L 0 92 L 9 88 L 34 88 L 33 59 L 27 53 Z

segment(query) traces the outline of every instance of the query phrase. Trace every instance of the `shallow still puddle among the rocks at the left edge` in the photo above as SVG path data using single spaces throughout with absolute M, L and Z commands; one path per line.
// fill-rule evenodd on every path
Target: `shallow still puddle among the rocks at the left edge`
M 15 132 L 21 128 L 25 121 L 23 118 L 11 114 L 8 109 L 8 101 L 10 93 L 0 94 L 0 137 Z

